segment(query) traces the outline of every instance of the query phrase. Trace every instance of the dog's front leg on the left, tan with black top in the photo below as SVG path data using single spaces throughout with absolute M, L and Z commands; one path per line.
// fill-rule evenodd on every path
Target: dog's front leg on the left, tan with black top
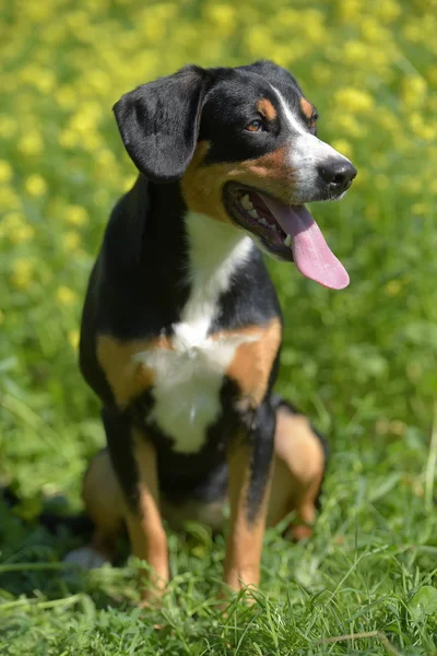
M 158 505 L 156 453 L 147 436 L 118 413 L 104 411 L 109 455 L 125 495 L 125 520 L 140 571 L 141 602 L 161 597 L 168 583 L 167 538 Z

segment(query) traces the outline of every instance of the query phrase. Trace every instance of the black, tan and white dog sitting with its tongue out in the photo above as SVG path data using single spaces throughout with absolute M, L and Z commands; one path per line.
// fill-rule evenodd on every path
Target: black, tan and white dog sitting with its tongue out
M 69 560 L 111 560 L 125 524 L 147 604 L 169 579 L 165 522 L 218 529 L 228 502 L 224 582 L 257 586 L 265 526 L 294 511 L 287 534 L 309 536 L 326 466 L 321 435 L 272 393 L 283 319 L 262 251 L 346 286 L 304 203 L 342 198 L 356 169 L 317 138 L 315 106 L 270 61 L 187 66 L 114 112 L 139 175 L 84 303 L 80 367 L 107 448 L 84 479 L 92 544 Z

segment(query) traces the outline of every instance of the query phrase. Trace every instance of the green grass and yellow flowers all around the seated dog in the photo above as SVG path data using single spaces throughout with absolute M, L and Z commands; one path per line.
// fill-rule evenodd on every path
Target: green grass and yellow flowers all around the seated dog
M 0 505 L 1 654 L 437 653 L 435 9 L 3 3 L 0 476 L 22 501 Z M 61 571 L 81 539 L 37 520 L 44 503 L 80 508 L 81 476 L 103 443 L 75 349 L 93 256 L 134 173 L 110 107 L 188 61 L 259 57 L 295 72 L 321 137 L 359 169 L 341 204 L 314 209 L 350 288 L 329 292 L 271 267 L 286 317 L 279 388 L 331 446 L 323 509 L 307 544 L 268 534 L 262 593 L 226 617 L 216 606 L 223 538 L 213 543 L 199 526 L 172 535 L 168 597 L 140 617 L 129 604 L 134 562 Z

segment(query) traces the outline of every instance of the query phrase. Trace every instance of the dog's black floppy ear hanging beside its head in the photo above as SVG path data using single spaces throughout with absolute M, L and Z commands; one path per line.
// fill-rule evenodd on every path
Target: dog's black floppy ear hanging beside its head
M 127 93 L 114 106 L 133 163 L 147 178 L 168 183 L 184 175 L 193 155 L 208 71 L 188 66 Z

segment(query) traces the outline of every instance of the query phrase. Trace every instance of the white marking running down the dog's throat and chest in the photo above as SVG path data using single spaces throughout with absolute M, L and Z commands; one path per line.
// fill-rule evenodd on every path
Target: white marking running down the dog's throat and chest
M 174 449 L 185 454 L 201 448 L 208 426 L 220 413 L 226 367 L 236 349 L 253 340 L 241 335 L 208 336 L 220 295 L 253 247 L 250 237 L 198 214 L 187 218 L 187 230 L 192 286 L 181 320 L 174 326 L 173 350 L 135 355 L 155 374 L 151 419 L 174 440 Z

